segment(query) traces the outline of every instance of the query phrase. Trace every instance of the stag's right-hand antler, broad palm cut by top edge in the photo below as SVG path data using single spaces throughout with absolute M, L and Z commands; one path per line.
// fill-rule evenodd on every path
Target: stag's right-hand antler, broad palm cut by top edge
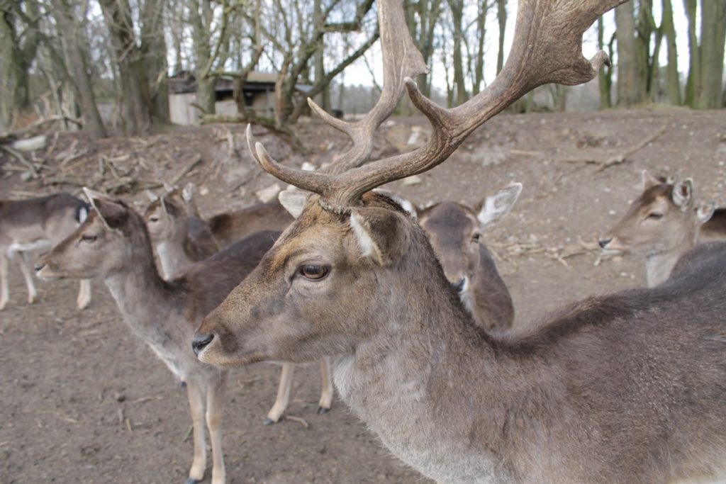
M 520 0 L 513 46 L 497 78 L 476 97 L 451 110 L 423 96 L 408 80 L 410 99 L 433 126 L 427 144 L 342 173 L 327 202 L 355 205 L 362 194 L 376 186 L 430 170 L 446 160 L 478 126 L 537 86 L 576 85 L 595 78 L 597 70 L 609 62 L 608 56 L 600 51 L 592 60 L 582 57 L 582 35 L 599 15 L 625 1 Z

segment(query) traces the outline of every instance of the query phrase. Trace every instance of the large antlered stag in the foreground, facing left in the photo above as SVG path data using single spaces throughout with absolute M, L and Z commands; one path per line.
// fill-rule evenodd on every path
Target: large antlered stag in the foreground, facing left
M 542 83 L 595 77 L 582 33 L 619 0 L 520 0 L 505 67 L 447 110 L 399 0 L 377 2 L 386 82 L 325 171 L 256 160 L 311 192 L 255 270 L 192 339 L 221 367 L 340 355 L 340 395 L 393 454 L 442 483 L 664 483 L 726 475 L 726 248 L 656 288 L 586 298 L 489 334 L 446 279 L 425 231 L 376 186 L 439 165 L 476 127 Z M 412 152 L 367 161 L 403 86 L 433 125 Z M 249 133 L 249 130 L 248 130 Z M 358 153 L 356 155 L 355 153 Z

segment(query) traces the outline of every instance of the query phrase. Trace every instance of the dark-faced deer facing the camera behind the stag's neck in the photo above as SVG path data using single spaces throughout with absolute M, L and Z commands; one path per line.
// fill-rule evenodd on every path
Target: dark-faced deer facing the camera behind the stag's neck
M 476 207 L 440 202 L 417 214 L 446 279 L 485 329 L 512 327 L 514 305 L 482 234 L 509 213 L 521 192 L 522 184 L 512 184 Z

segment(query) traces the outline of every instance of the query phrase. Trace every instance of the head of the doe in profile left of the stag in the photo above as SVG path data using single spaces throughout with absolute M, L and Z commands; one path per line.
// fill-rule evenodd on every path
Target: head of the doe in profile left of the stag
M 44 255 L 36 267 L 43 279 L 91 279 L 121 270 L 134 250 L 150 245 L 142 218 L 129 205 L 84 188 L 94 210 L 81 226 Z

